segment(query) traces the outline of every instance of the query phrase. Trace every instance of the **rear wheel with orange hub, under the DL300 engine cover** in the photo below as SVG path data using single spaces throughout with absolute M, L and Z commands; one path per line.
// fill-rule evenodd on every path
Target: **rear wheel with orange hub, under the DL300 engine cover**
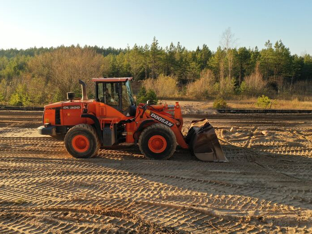
M 75 158 L 91 158 L 101 146 L 94 127 L 89 124 L 78 124 L 70 128 L 65 135 L 64 144 L 68 154 Z

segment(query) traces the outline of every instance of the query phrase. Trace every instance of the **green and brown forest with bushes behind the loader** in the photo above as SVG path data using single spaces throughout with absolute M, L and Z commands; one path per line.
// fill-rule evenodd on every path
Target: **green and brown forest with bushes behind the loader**
M 92 97 L 93 77 L 129 77 L 161 98 L 243 99 L 262 94 L 274 98 L 312 96 L 312 56 L 291 54 L 281 40 L 263 49 L 235 47 L 231 31 L 220 46 L 187 50 L 180 43 L 163 48 L 152 43 L 132 48 L 60 46 L 0 50 L 0 103 L 40 106 L 61 101 L 66 92 L 80 94 L 85 80 Z

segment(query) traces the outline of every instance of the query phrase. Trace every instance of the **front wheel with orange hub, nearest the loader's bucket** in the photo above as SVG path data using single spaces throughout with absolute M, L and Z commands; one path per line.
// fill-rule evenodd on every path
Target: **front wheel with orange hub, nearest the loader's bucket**
M 156 123 L 142 131 L 138 145 L 145 158 L 166 160 L 176 151 L 177 139 L 168 126 Z

